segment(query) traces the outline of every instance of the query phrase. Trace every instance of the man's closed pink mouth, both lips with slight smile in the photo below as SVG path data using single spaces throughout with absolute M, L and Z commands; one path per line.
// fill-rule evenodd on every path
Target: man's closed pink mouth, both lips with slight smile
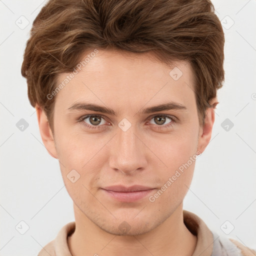
M 156 188 L 141 185 L 133 185 L 130 187 L 115 185 L 101 189 L 112 199 L 122 202 L 132 202 L 144 198 Z

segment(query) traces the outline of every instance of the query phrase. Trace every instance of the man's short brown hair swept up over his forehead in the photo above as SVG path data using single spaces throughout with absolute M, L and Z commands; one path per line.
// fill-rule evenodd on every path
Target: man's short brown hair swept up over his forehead
M 53 132 L 57 74 L 93 48 L 148 52 L 162 63 L 187 60 L 195 76 L 199 123 L 224 80 L 224 33 L 209 0 L 49 0 L 33 21 L 21 74 L 28 98 Z

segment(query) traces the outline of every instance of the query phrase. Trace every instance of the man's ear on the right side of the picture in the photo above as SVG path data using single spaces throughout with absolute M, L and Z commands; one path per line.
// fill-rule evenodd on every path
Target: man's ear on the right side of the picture
M 200 126 L 199 134 L 198 134 L 198 144 L 197 150 L 201 153 L 204 151 L 206 146 L 208 145 L 211 138 L 211 131 L 213 127 L 213 123 L 215 120 L 215 106 L 218 104 L 217 98 L 214 97 L 209 101 L 209 104 L 213 107 L 208 107 L 206 109 L 205 117 L 204 117 L 204 125 Z

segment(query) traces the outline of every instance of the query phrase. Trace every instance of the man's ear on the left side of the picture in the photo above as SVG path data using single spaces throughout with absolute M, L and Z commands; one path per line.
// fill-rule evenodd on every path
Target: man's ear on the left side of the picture
M 36 105 L 35 108 L 36 108 L 37 121 L 38 121 L 42 142 L 45 148 L 47 149 L 48 153 L 52 157 L 58 159 L 55 144 L 54 144 L 54 137 L 52 135 L 46 114 L 38 105 Z

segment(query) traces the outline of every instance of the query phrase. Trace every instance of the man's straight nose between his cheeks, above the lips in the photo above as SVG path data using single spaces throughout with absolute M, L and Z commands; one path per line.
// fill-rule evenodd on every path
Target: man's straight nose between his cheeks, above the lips
M 142 138 L 136 134 L 135 125 L 123 131 L 117 129 L 110 145 L 109 165 L 115 171 L 131 174 L 135 170 L 143 170 L 146 167 L 145 145 Z

